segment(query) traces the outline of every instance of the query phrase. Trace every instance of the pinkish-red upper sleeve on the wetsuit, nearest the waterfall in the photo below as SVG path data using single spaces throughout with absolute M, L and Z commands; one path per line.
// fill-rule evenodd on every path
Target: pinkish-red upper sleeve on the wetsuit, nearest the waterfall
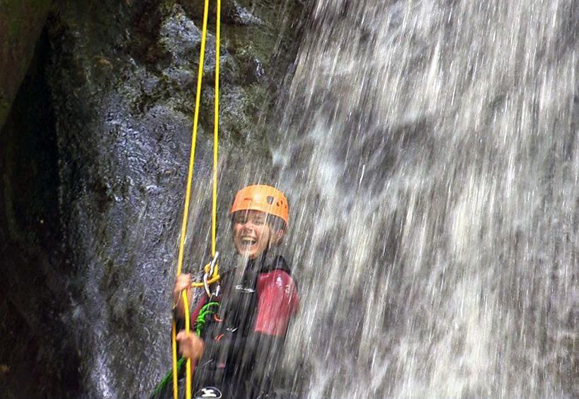
M 299 298 L 289 274 L 274 270 L 258 279 L 258 315 L 255 331 L 261 334 L 285 336 L 289 319 L 297 312 Z

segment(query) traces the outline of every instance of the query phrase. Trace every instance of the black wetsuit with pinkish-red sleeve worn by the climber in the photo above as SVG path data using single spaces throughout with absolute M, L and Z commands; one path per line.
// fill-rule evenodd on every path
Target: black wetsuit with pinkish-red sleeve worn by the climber
M 219 310 L 206 322 L 205 348 L 193 375 L 193 398 L 267 398 L 289 318 L 299 305 L 283 257 L 250 261 L 222 275 Z M 192 313 L 192 323 L 203 298 Z M 203 396 L 205 395 L 205 396 Z M 280 395 L 276 395 L 280 397 Z

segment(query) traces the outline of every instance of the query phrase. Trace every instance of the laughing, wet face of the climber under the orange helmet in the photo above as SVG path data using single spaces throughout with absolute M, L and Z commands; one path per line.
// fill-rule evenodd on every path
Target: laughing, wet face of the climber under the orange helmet
M 239 210 L 233 218 L 233 241 L 237 252 L 256 259 L 270 244 L 271 227 L 267 214 L 259 210 Z

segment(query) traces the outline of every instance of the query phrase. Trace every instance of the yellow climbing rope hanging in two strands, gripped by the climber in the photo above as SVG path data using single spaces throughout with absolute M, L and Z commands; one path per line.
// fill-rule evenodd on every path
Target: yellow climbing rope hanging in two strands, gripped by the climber
M 187 221 L 189 215 L 189 203 L 191 184 L 193 181 L 193 166 L 195 164 L 195 144 L 197 142 L 197 124 L 199 122 L 199 108 L 201 102 L 201 87 L 203 78 L 203 63 L 205 60 L 205 43 L 207 42 L 207 15 L 209 13 L 209 0 L 205 0 L 205 8 L 203 10 L 203 26 L 201 35 L 201 50 L 199 55 L 199 69 L 197 72 L 197 92 L 195 94 L 195 114 L 193 116 L 193 137 L 191 138 L 191 153 L 189 158 L 189 170 L 187 176 L 187 189 L 185 192 L 185 209 L 183 210 L 183 222 L 181 223 L 181 235 L 179 241 L 179 254 L 177 260 L 177 276 L 181 274 L 183 268 L 183 254 L 185 252 L 185 236 L 187 233 Z M 217 0 L 217 28 L 216 28 L 216 60 L 215 60 L 215 115 L 213 128 L 213 207 L 212 207 L 212 235 L 211 235 L 211 253 L 215 257 L 216 241 L 217 241 L 217 154 L 219 147 L 219 45 L 221 40 L 221 0 Z M 219 280 L 218 266 L 215 265 L 212 278 L 208 283 L 214 283 Z M 192 286 L 200 287 L 203 283 L 193 283 Z M 185 332 L 190 332 L 190 315 L 189 304 L 187 300 L 187 293 L 183 291 L 183 306 L 185 308 Z M 177 342 L 176 342 L 176 322 L 173 320 L 173 327 L 171 332 L 171 346 L 173 356 L 173 398 L 178 399 L 178 376 L 177 376 Z M 186 398 L 191 398 L 191 359 L 187 359 L 186 371 Z

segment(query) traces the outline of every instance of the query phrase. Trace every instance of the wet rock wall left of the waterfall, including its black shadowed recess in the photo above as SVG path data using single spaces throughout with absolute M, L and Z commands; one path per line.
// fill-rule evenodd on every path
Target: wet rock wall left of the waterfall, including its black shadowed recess
M 209 256 L 213 8 L 189 271 Z M 295 1 L 223 2 L 220 217 L 235 189 L 271 178 L 265 133 L 305 9 Z M 0 345 L 0 388 L 9 397 L 141 397 L 171 365 L 169 293 L 200 12 L 190 1 L 81 0 L 61 4 L 47 21 L 37 78 L 19 92 L 0 136 L 0 307 L 8 315 L 1 332 L 10 333 Z M 222 252 L 231 251 L 227 227 L 219 225 Z M 27 375 L 43 382 L 23 392 Z

